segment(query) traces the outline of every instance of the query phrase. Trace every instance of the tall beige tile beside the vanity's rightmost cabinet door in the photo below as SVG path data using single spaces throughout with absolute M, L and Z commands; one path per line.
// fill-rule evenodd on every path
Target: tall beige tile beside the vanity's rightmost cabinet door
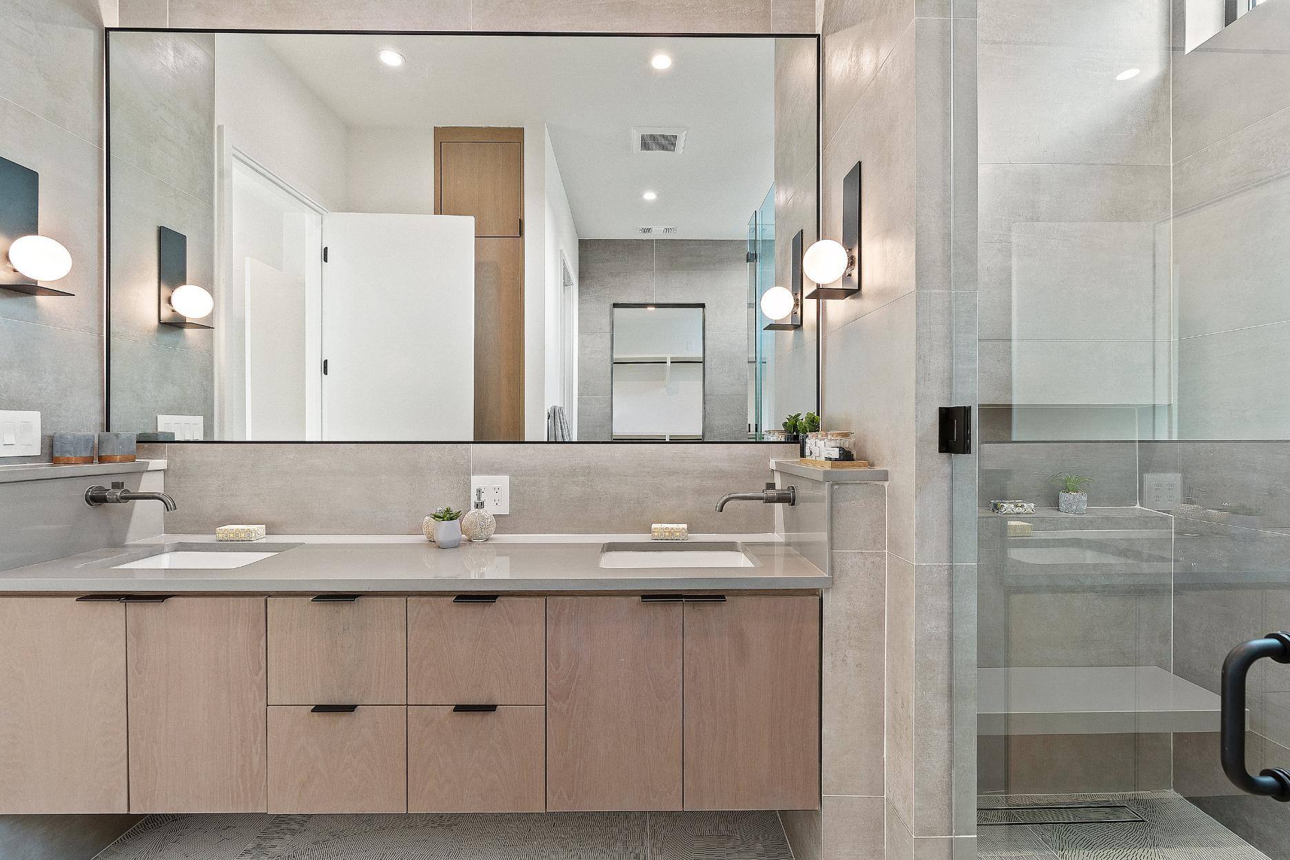
M 824 592 L 824 794 L 884 792 L 886 553 L 833 552 Z

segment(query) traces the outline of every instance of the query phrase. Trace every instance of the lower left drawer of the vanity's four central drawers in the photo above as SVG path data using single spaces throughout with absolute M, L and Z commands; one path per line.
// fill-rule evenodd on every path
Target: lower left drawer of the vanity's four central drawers
M 268 709 L 270 812 L 405 812 L 408 709 Z

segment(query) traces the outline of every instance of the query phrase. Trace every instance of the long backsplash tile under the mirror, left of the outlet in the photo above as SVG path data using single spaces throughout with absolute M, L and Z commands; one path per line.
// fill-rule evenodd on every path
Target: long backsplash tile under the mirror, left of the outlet
M 531 449 L 530 449 L 531 450 Z M 263 522 L 270 534 L 418 534 L 470 498 L 470 445 L 172 445 L 166 531 Z M 396 468 L 392 468 L 396 467 Z M 335 487 L 346 493 L 334 493 Z

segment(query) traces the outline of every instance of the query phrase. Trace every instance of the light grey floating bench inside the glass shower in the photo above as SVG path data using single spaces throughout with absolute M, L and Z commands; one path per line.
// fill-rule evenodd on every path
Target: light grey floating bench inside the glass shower
M 978 669 L 978 735 L 1218 731 L 1216 694 L 1155 665 Z

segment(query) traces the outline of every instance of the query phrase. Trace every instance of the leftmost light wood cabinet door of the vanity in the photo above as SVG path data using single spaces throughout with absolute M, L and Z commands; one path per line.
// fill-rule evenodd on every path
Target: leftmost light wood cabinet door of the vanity
M 125 812 L 125 607 L 0 598 L 0 814 Z

